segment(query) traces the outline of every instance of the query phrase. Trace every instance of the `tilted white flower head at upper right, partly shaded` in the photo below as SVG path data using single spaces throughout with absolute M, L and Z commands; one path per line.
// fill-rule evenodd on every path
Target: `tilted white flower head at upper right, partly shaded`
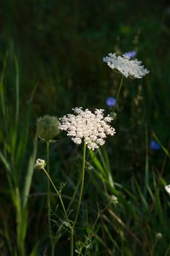
M 112 69 L 122 73 L 125 78 L 142 78 L 149 73 L 144 66 L 141 66 L 141 61 L 133 60 L 129 56 L 116 56 L 116 53 L 109 53 L 103 61 Z

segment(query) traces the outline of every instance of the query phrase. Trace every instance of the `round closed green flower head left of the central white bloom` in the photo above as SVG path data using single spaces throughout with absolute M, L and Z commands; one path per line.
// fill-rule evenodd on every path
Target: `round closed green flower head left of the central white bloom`
M 58 118 L 55 116 L 42 116 L 36 121 L 36 131 L 39 138 L 50 141 L 58 135 Z

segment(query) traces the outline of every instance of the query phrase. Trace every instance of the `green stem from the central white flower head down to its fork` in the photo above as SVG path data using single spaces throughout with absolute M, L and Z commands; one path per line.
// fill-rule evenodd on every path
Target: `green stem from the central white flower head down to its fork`
M 86 151 L 86 143 L 84 142 L 84 148 L 83 148 L 83 157 L 82 157 L 82 176 L 81 176 L 81 185 L 80 185 L 80 196 L 77 204 L 77 212 L 76 212 L 76 217 L 74 219 L 73 227 L 77 223 L 77 219 L 79 216 L 79 211 L 80 211 L 80 204 L 82 200 L 82 190 L 84 187 L 84 178 L 85 178 L 85 151 Z

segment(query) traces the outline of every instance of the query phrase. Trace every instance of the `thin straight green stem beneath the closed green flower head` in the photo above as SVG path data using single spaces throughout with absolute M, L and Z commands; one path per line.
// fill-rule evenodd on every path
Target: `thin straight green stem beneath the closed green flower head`
M 47 141 L 47 175 L 50 175 L 50 142 Z M 51 256 L 54 256 L 54 244 L 53 244 L 53 233 L 51 227 L 51 219 L 50 219 L 50 181 L 47 179 L 47 207 L 48 207 L 48 227 L 50 232 L 50 243 L 51 243 Z

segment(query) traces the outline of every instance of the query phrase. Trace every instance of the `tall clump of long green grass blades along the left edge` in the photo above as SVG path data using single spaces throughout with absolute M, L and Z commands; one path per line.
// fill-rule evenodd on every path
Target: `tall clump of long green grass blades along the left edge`
M 4 121 L 2 132 L 4 138 L 0 151 L 1 162 L 4 163 L 4 173 L 7 176 L 7 188 L 11 196 L 12 204 L 15 208 L 15 230 L 12 230 L 11 236 L 16 236 L 16 244 L 12 244 L 13 238 L 7 233 L 7 243 L 12 244 L 9 249 L 12 254 L 26 255 L 25 239 L 28 227 L 28 196 L 31 188 L 31 179 L 34 171 L 34 162 L 36 159 L 36 143 L 31 157 L 26 154 L 28 144 L 28 126 L 31 118 L 31 107 L 28 106 L 26 116 L 23 118 L 23 127 L 19 122 L 20 99 L 19 99 L 19 73 L 18 62 L 15 58 L 16 83 L 15 83 L 15 108 L 9 112 L 7 105 L 7 87 L 4 85 L 4 72 L 7 64 L 7 57 L 4 60 L 4 68 L 1 73 L 1 119 Z M 28 157 L 28 163 L 27 158 Z M 28 168 L 28 170 L 27 170 Z M 26 172 L 27 170 L 27 172 Z M 5 189 L 5 187 L 4 187 Z M 3 189 L 2 189 L 3 191 Z M 4 190 L 4 194 L 6 194 Z M 9 229 L 6 220 L 5 229 Z M 16 248 L 16 251 L 15 251 Z

